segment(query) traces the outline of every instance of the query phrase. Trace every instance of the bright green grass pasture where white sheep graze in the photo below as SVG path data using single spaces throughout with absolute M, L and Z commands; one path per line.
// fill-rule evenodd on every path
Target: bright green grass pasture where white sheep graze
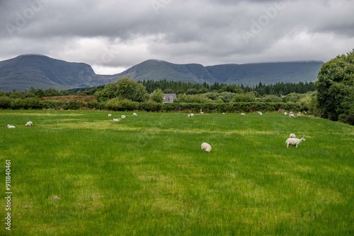
M 137 113 L 0 111 L 12 235 L 354 235 L 354 126 Z M 286 148 L 291 132 L 307 141 Z

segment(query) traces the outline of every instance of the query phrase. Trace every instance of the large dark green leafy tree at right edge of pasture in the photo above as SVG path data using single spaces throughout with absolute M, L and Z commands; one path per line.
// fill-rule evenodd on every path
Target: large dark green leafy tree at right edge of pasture
M 354 49 L 323 64 L 315 85 L 321 117 L 354 124 Z

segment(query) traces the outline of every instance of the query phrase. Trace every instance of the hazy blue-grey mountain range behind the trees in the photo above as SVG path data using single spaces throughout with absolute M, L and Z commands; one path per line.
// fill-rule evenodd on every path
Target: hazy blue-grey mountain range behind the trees
M 114 75 L 96 74 L 89 64 L 52 59 L 40 54 L 25 54 L 0 61 L 0 90 L 33 88 L 87 88 L 128 77 L 135 81 L 182 81 L 257 85 L 314 82 L 323 61 L 292 61 L 257 64 L 173 64 L 149 59 Z

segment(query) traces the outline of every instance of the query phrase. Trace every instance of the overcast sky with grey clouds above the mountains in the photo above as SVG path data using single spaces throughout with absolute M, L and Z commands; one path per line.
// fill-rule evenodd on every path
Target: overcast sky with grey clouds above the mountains
M 354 48 L 354 1 L 0 0 L 0 61 L 44 54 L 120 73 L 176 64 L 328 61 Z

